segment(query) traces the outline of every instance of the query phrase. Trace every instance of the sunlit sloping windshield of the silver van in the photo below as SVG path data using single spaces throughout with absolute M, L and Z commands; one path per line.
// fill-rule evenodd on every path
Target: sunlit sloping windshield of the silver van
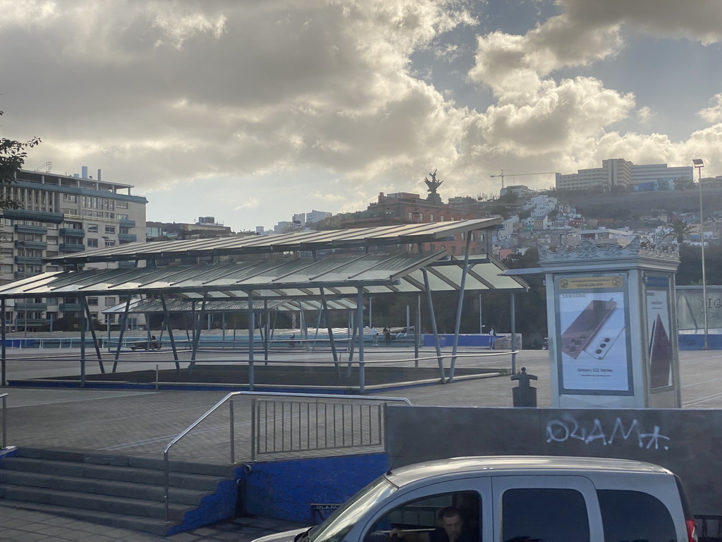
M 341 542 L 369 509 L 388 498 L 396 489 L 398 488 L 386 478 L 378 478 L 336 509 L 321 525 L 311 529 L 308 532 L 308 541 Z

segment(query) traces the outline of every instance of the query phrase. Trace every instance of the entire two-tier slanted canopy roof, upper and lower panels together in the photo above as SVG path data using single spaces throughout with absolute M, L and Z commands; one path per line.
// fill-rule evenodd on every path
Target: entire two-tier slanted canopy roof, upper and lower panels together
M 445 251 L 406 252 L 413 244 L 443 242 L 493 228 L 501 218 L 393 225 L 352 230 L 134 243 L 45 258 L 53 264 L 144 260 L 145 267 L 46 272 L 0 285 L 0 298 L 164 294 L 207 300 L 327 300 L 362 293 L 525 291 L 502 276 L 505 267 L 486 255 L 464 259 Z M 379 247 L 393 252 L 380 252 Z M 317 251 L 322 256 L 317 257 Z M 261 256 L 266 254 L 266 256 Z M 232 256 L 235 261 L 218 262 Z M 206 263 L 160 265 L 184 258 Z

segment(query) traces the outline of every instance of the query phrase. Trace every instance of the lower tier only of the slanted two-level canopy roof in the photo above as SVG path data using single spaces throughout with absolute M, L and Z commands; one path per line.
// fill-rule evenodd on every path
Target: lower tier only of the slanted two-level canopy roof
M 293 257 L 256 262 L 194 264 L 135 269 L 48 272 L 0 285 L 0 298 L 125 296 L 173 294 L 182 298 L 319 299 L 349 298 L 363 293 L 422 293 L 429 289 L 461 291 L 463 262 L 431 254 L 370 253 L 333 255 L 320 260 Z M 517 278 L 500 274 L 493 259 L 470 260 L 466 291 L 523 291 Z

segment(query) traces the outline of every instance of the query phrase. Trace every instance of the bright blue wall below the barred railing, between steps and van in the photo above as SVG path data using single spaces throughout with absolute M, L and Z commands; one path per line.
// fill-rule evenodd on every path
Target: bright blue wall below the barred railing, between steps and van
M 385 453 L 253 463 L 240 469 L 247 514 L 317 523 L 311 504 L 342 504 L 389 469 Z

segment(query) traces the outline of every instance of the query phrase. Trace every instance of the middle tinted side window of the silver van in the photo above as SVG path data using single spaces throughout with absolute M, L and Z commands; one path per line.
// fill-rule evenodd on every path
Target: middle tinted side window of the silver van
M 501 506 L 504 542 L 589 542 L 586 503 L 575 489 L 508 489 Z

